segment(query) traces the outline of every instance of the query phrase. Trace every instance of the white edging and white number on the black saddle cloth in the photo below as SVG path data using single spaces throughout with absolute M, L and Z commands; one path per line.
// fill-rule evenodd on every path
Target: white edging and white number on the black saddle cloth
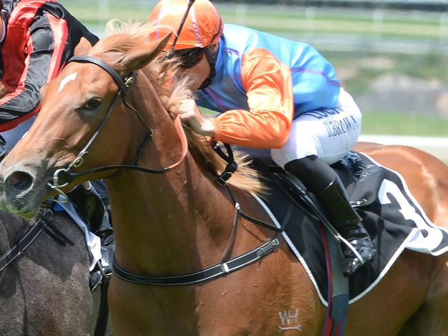
M 412 229 L 409 235 L 407 235 L 407 238 L 403 240 L 403 243 L 396 249 L 394 255 L 390 258 L 389 262 L 387 262 L 384 269 L 380 272 L 378 277 L 374 282 L 370 284 L 362 293 L 357 295 L 356 297 L 353 297 L 352 300 L 349 300 L 349 304 L 353 304 L 354 302 L 360 300 L 362 297 L 364 297 L 371 289 L 373 289 L 386 275 L 386 273 L 389 271 L 391 266 L 394 264 L 394 262 L 398 259 L 400 254 L 403 252 L 404 249 L 409 249 L 412 251 L 418 251 L 420 253 L 427 253 L 434 256 L 441 255 L 442 253 L 445 253 L 448 251 L 448 246 L 442 246 L 440 249 L 438 249 L 440 242 L 442 242 L 442 232 L 445 231 L 448 233 L 448 230 L 442 227 L 436 226 L 429 218 L 427 217 L 425 211 L 423 211 L 420 204 L 418 204 L 416 198 L 411 194 L 409 191 L 409 188 L 407 187 L 407 184 L 405 182 L 405 179 L 403 176 L 398 174 L 398 172 L 389 169 L 383 165 L 380 165 L 378 162 L 376 162 L 374 159 L 372 159 L 370 156 L 364 154 L 363 156 L 366 156 L 371 162 L 374 162 L 374 164 L 378 165 L 379 167 L 383 167 L 387 169 L 388 171 L 393 172 L 398 176 L 403 183 L 404 191 L 409 197 L 409 199 L 414 203 L 413 205 L 420 211 L 420 214 L 416 213 L 415 209 L 411 207 L 409 202 L 403 197 L 403 193 L 398 189 L 398 186 L 387 179 L 383 180 L 382 185 L 380 187 L 380 190 L 378 191 L 378 200 L 380 200 L 381 204 L 388 204 L 390 202 L 389 197 L 394 197 L 396 202 L 400 205 L 401 209 L 398 211 L 403 215 L 403 218 L 405 220 L 412 220 L 416 223 L 416 228 Z M 278 223 L 278 220 L 274 217 L 274 214 L 269 210 L 265 202 L 261 200 L 261 198 L 258 198 L 258 196 L 252 194 L 254 198 L 261 204 L 263 209 L 265 209 L 266 213 L 271 218 L 272 222 L 276 225 L 276 227 L 281 227 L 280 223 Z M 287 237 L 287 234 L 283 232 L 283 238 L 285 238 L 285 241 L 287 242 L 288 246 L 292 249 L 294 252 L 294 255 L 298 258 L 298 260 L 301 262 L 303 267 L 305 268 L 305 271 L 309 275 L 309 279 L 312 281 L 312 284 L 314 285 L 314 288 L 316 288 L 316 292 L 318 293 L 318 297 L 320 299 L 320 302 L 324 306 L 327 306 L 327 301 L 324 299 L 322 293 L 320 293 L 318 285 L 316 280 L 314 279 L 314 276 L 312 275 L 312 272 L 309 270 L 309 266 L 307 266 L 305 259 L 302 257 L 302 255 L 297 251 L 294 244 L 292 244 L 291 240 Z

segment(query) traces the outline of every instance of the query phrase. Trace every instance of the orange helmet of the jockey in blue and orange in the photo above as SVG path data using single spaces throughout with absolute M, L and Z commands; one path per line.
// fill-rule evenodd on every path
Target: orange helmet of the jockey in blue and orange
M 150 14 L 150 21 L 156 25 L 156 37 L 162 34 L 164 26 L 178 32 L 182 19 L 188 10 L 188 0 L 161 0 Z M 158 28 L 159 27 L 159 28 Z M 165 28 L 166 30 L 166 28 Z M 195 0 L 188 11 L 174 50 L 207 48 L 218 43 L 223 34 L 223 21 L 216 7 L 209 0 Z M 172 48 L 174 34 L 165 46 Z

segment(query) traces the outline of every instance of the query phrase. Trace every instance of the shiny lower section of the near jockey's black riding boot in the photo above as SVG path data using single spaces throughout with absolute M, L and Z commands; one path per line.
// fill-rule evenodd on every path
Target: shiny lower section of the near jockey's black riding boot
M 369 233 L 365 229 L 361 218 L 350 205 L 345 189 L 338 178 L 335 178 L 323 191 L 318 194 L 320 202 L 329 212 L 330 221 L 363 260 L 356 257 L 349 246 L 343 244 L 343 274 L 347 277 L 354 273 L 364 262 L 373 258 L 375 249 L 370 240 Z

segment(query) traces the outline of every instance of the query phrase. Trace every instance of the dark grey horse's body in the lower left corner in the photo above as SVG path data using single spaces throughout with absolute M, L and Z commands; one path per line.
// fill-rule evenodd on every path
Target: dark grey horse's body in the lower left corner
M 0 255 L 36 222 L 0 211 Z M 90 293 L 84 235 L 66 213 L 50 223 L 0 271 L 0 335 L 95 335 L 101 294 Z

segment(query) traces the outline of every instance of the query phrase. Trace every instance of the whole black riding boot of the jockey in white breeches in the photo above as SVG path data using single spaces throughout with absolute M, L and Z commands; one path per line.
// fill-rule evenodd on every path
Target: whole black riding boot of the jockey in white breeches
M 329 213 L 329 220 L 363 260 L 356 257 L 348 246 L 343 244 L 343 274 L 347 277 L 360 268 L 375 253 L 369 233 L 361 218 L 350 205 L 345 189 L 336 173 L 317 156 L 293 160 L 285 165 L 285 170 L 303 182 L 308 191 L 316 195 Z

